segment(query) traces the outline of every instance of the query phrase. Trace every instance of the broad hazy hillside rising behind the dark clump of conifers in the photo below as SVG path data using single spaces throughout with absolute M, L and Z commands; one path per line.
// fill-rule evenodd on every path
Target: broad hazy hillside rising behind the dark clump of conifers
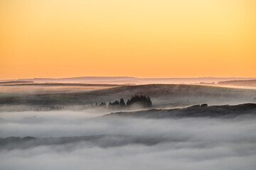
M 55 109 L 68 106 L 84 106 L 90 103 L 109 103 L 110 101 L 119 100 L 119 98 L 124 98 L 126 101 L 131 96 L 141 94 L 150 96 L 155 108 L 191 106 L 200 103 L 213 105 L 256 101 L 255 89 L 233 89 L 182 84 L 149 84 L 105 87 L 105 89 L 81 90 L 75 93 L 58 93 L 54 91 L 50 94 L 43 94 L 42 91 L 27 94 L 0 93 L 0 106 L 44 106 Z

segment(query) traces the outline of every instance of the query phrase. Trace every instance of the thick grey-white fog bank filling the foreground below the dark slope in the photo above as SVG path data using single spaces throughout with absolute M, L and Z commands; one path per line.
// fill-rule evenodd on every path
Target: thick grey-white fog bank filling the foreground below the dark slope
M 96 142 L 1 148 L 0 169 L 254 170 L 256 167 L 253 116 L 93 118 L 100 115 L 95 111 L 0 113 L 0 137 L 106 135 Z M 123 136 L 129 140 L 124 142 Z M 137 137 L 140 140 L 132 140 Z

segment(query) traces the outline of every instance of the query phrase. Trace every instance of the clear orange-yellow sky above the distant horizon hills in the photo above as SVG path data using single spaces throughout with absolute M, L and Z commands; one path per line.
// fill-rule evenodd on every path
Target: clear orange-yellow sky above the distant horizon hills
M 255 0 L 0 0 L 0 79 L 256 77 Z

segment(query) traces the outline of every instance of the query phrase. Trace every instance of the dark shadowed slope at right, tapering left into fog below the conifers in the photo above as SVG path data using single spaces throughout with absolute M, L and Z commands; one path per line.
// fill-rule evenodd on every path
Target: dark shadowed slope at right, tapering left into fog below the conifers
M 256 103 L 245 103 L 235 106 L 191 106 L 176 109 L 151 109 L 147 111 L 117 112 L 103 115 L 105 118 L 112 116 L 132 118 L 235 118 L 239 115 L 256 115 Z

